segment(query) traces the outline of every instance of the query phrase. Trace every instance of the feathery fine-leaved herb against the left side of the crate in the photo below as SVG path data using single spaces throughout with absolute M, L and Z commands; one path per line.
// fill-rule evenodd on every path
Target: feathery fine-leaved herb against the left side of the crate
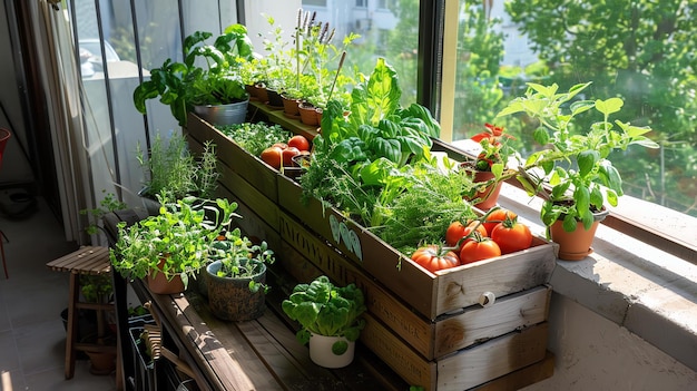
M 198 159 L 189 151 L 184 136 L 177 133 L 169 140 L 157 134 L 147 158 L 140 145 L 136 154 L 146 178 L 141 193 L 153 198 L 157 195 L 168 199 L 187 195 L 210 198 L 217 188 L 215 144 L 209 140 L 204 144 Z

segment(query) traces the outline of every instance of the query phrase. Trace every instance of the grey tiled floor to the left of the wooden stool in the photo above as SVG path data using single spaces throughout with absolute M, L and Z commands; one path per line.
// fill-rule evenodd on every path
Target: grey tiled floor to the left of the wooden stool
M 76 362 L 71 380 L 63 375 L 60 312 L 68 304 L 68 274 L 46 266 L 76 250 L 62 225 L 38 199 L 29 216 L 0 216 L 0 229 L 10 241 L 4 242 L 9 280 L 0 268 L 0 391 L 116 390 L 114 374 L 90 374 L 87 360 Z

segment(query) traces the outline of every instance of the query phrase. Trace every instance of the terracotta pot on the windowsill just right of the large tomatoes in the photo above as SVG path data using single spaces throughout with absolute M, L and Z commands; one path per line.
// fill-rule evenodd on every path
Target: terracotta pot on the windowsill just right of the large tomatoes
M 559 245 L 560 260 L 581 261 L 592 253 L 591 244 L 596 237 L 598 224 L 608 215 L 607 211 L 593 214 L 595 222 L 589 229 L 583 227 L 583 223 L 576 224 L 573 232 L 566 232 L 562 227 L 562 221 L 557 221 L 549 227 L 549 234 L 552 242 Z

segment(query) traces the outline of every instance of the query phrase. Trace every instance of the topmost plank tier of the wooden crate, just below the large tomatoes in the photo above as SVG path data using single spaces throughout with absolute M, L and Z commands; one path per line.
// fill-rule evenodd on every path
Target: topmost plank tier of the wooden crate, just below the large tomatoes
M 356 265 L 430 320 L 477 304 L 484 292 L 497 297 L 549 282 L 557 256 L 552 244 L 533 237 L 532 247 L 432 274 L 334 208 L 316 199 L 301 203 L 302 188 L 278 177 L 278 204 L 324 237 Z

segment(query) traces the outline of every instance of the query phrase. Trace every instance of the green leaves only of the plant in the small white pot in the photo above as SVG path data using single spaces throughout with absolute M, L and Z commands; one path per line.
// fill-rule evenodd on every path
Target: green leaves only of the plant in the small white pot
M 303 344 L 311 333 L 355 341 L 365 328 L 365 320 L 360 317 L 366 310 L 363 292 L 355 284 L 335 286 L 325 275 L 297 284 L 282 307 L 302 325 L 296 336 Z

